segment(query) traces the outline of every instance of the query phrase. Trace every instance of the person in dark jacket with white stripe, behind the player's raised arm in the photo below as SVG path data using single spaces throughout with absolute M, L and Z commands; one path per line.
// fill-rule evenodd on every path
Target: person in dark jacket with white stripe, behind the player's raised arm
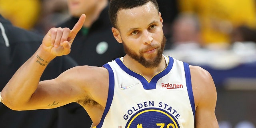
M 12 25 L 0 15 L 0 89 L 8 83 L 18 68 L 30 58 L 42 44 L 44 36 Z M 69 56 L 53 60 L 40 80 L 56 78 L 62 72 L 78 66 Z M 28 76 L 29 78 L 30 76 Z M 61 128 L 58 127 L 58 111 L 52 110 L 13 111 L 0 104 L 1 128 Z M 46 114 L 47 113 L 47 114 Z M 29 120 L 25 120 L 29 119 Z M 15 122 L 15 123 L 14 123 Z

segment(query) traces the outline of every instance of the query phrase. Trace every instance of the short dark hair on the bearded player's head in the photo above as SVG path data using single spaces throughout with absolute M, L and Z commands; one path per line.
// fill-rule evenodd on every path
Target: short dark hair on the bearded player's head
M 138 6 L 142 6 L 148 2 L 152 2 L 156 9 L 159 11 L 158 3 L 156 0 L 110 0 L 109 4 L 109 18 L 112 26 L 117 27 L 117 12 L 121 9 L 131 9 Z

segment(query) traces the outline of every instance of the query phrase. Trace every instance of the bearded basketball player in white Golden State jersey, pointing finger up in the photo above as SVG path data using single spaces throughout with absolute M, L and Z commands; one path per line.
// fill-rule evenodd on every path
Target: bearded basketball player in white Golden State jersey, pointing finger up
M 113 35 L 123 43 L 126 56 L 103 67 L 77 66 L 39 82 L 46 66 L 37 61 L 48 64 L 69 54 L 85 20 L 82 14 L 72 30 L 49 30 L 34 56 L 2 90 L 1 101 L 13 110 L 78 102 L 90 115 L 92 128 L 218 128 L 210 74 L 162 56 L 165 38 L 157 2 L 112 0 L 109 13 Z

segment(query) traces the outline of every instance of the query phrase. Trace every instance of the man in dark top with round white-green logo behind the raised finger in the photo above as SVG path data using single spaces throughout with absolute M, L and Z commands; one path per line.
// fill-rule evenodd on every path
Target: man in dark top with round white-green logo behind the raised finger
M 108 0 L 68 0 L 71 18 L 58 27 L 72 29 L 82 14 L 86 21 L 76 35 L 69 54 L 79 65 L 102 66 L 125 55 L 122 44 L 116 43 L 108 16 Z

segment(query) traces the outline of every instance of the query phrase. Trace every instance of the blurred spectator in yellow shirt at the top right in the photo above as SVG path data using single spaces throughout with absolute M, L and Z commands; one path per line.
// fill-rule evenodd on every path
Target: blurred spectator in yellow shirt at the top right
M 255 28 L 255 0 L 179 0 L 181 12 L 198 14 L 206 45 L 229 46 L 229 35 L 242 24 Z

